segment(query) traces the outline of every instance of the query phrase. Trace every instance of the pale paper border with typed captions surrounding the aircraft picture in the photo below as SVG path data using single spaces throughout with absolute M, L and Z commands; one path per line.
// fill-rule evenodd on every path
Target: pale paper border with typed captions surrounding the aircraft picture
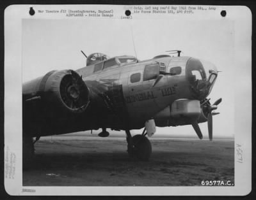
M 172 15 L 170 19 L 234 21 L 235 56 L 246 58 L 239 59 L 234 66 L 234 97 L 239 96 L 240 99 L 239 102 L 235 100 L 234 108 L 236 113 L 234 187 L 23 187 L 22 20 L 65 18 L 61 13 L 47 15 L 36 13 L 33 17 L 28 14 L 30 7 L 42 10 L 112 9 L 116 19 L 125 16 L 125 10 L 132 8 L 131 5 L 12 5 L 6 8 L 4 12 L 4 187 L 8 194 L 15 196 L 244 196 L 250 193 L 252 189 L 252 13 L 246 6 L 214 6 L 215 11 L 207 13 L 196 11 L 194 15 L 189 16 Z M 220 17 L 221 10 L 227 11 L 227 17 Z M 168 15 L 137 15 L 132 20 L 151 17 L 161 19 Z M 241 73 L 242 69 L 243 73 Z M 241 75 L 243 75 L 243 82 L 237 81 Z M 241 156 L 243 156 L 243 163 L 237 162 Z

